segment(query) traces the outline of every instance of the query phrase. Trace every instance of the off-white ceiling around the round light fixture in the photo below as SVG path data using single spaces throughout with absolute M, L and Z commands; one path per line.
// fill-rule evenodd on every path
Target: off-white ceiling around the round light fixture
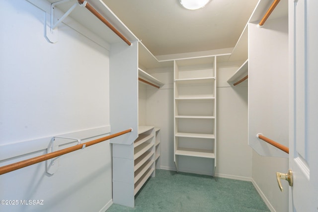
M 210 0 L 187 10 L 179 0 L 103 1 L 156 56 L 234 47 L 258 2 Z

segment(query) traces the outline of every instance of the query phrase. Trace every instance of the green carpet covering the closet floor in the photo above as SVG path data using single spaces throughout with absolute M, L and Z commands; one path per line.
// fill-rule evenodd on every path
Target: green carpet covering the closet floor
M 135 196 L 135 208 L 107 212 L 269 212 L 251 182 L 156 170 Z

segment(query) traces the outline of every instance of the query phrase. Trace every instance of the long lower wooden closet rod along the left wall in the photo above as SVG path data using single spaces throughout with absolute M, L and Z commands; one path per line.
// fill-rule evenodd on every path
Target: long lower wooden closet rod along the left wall
M 9 164 L 9 165 L 1 166 L 0 167 L 0 175 L 8 173 L 8 172 L 11 172 L 11 171 L 14 171 L 14 170 L 17 170 L 17 169 L 20 169 L 20 168 L 23 168 L 23 167 L 26 167 L 26 166 L 30 166 L 30 165 L 36 164 L 36 163 L 39 163 L 39 162 L 43 162 L 43 161 L 48 160 L 48 159 L 52 159 L 54 157 L 58 157 L 58 156 L 61 156 L 63 154 L 66 154 L 66 153 L 70 153 L 72 151 L 76 151 L 76 150 L 85 148 L 85 147 L 90 146 L 90 145 L 94 145 L 94 144 L 102 142 L 102 141 L 106 141 L 106 140 L 115 138 L 117 136 L 129 133 L 131 131 L 132 131 L 132 129 L 128 129 L 128 130 L 125 130 L 125 131 L 122 131 L 122 132 L 119 132 L 119 133 L 116 133 L 116 134 L 113 134 L 113 135 L 109 135 L 109 136 L 106 136 L 106 137 L 103 137 L 103 138 L 100 138 L 100 139 L 96 139 L 96 140 L 93 140 L 93 141 L 88 141 L 88 142 L 85 142 L 85 143 L 80 143 L 78 145 L 71 146 L 71 147 L 68 147 L 68 148 L 65 148 L 65 149 L 61 149 L 61 150 L 54 151 L 54 152 L 51 152 L 51 153 L 43 154 L 43 155 L 40 155 L 40 156 L 37 156 L 37 157 L 32 157 L 30 159 L 22 160 L 22 161 L 19 161 L 19 162 L 16 162 L 16 163 L 12 163 L 12 164 Z

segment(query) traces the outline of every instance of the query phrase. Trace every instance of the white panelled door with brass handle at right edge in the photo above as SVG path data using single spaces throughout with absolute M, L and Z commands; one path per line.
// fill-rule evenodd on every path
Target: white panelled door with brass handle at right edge
M 318 0 L 289 0 L 289 211 L 318 212 Z

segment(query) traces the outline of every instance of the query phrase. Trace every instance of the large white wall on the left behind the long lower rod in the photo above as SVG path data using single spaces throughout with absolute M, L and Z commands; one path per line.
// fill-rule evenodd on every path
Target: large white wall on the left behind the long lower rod
M 53 136 L 90 141 L 110 132 L 108 51 L 61 25 L 59 41 L 44 37 L 45 12 L 25 0 L 1 1 L 0 166 L 47 152 Z M 60 140 L 65 143 L 68 140 Z M 72 142 L 63 147 L 76 144 Z M 111 204 L 108 141 L 46 163 L 0 175 L 0 212 L 97 212 Z M 20 205 L 43 200 L 43 205 Z

